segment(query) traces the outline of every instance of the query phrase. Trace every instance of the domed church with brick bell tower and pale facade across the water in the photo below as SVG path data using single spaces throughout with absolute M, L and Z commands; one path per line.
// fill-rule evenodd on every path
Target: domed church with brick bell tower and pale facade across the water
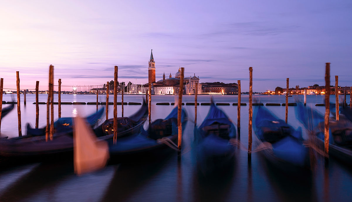
M 163 79 L 155 81 L 155 61 L 153 57 L 153 50 L 150 54 L 150 59 L 148 63 L 148 82 L 152 84 L 152 91 L 156 95 L 175 95 L 178 94 L 180 89 L 180 77 L 181 68 L 175 73 L 175 77 L 172 77 L 171 73 L 169 78 L 165 78 L 165 72 L 163 74 Z M 196 86 L 198 84 L 198 94 L 202 92 L 202 85 L 199 83 L 199 77 L 194 76 L 183 78 L 183 94 L 184 95 L 194 95 L 196 93 Z

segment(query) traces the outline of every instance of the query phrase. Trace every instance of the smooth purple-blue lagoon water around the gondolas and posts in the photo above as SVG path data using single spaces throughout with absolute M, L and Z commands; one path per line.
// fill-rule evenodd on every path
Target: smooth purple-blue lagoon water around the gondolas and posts
M 124 102 L 142 102 L 144 96 L 125 95 Z M 237 96 L 213 96 L 215 102 L 230 103 L 219 106 L 237 123 Z M 11 95 L 4 95 L 11 101 Z M 39 95 L 39 102 L 46 102 L 46 95 Z M 57 95 L 55 95 L 55 100 Z M 96 95 L 62 95 L 62 102 L 95 102 Z M 110 102 L 112 102 L 110 96 Z M 241 142 L 248 144 L 248 96 L 241 96 Z M 285 103 L 284 96 L 253 96 L 262 103 Z M 289 97 L 289 102 L 303 96 Z M 307 96 L 307 105 L 324 103 L 323 96 Z M 349 96 L 347 96 L 347 100 Z M 121 97 L 118 96 L 118 100 Z M 331 96 L 331 102 L 335 97 Z M 99 96 L 105 102 L 106 96 Z M 27 105 L 21 97 L 22 131 L 25 123 L 35 124 L 35 96 L 27 94 Z M 152 119 L 165 118 L 174 106 L 155 105 L 158 102 L 175 102 L 174 96 L 152 96 Z M 194 102 L 194 96 L 183 96 L 183 102 Z M 198 102 L 210 102 L 210 96 L 198 96 Z M 3 105 L 4 107 L 6 105 Z M 57 117 L 57 105 L 55 116 Z M 39 105 L 39 126 L 46 124 L 46 105 Z M 121 115 L 118 105 L 118 115 Z M 133 114 L 140 105 L 125 105 L 124 115 Z M 194 106 L 183 106 L 194 119 Z M 267 106 L 284 119 L 284 106 Z M 315 106 L 314 106 L 315 107 Z M 315 107 L 322 113 L 325 107 Z M 200 124 L 206 117 L 209 106 L 198 106 Z M 77 113 L 86 116 L 96 111 L 95 105 L 62 105 L 62 117 Z M 109 117 L 113 117 L 113 105 L 109 105 Z M 105 116 L 103 117 L 105 119 Z M 102 120 L 103 121 L 103 120 Z M 301 126 L 294 115 L 294 106 L 288 107 L 288 123 Z M 351 201 L 351 168 L 330 159 L 328 168 L 322 160 L 311 176 L 291 178 L 271 168 L 263 156 L 252 154 L 248 163 L 247 153 L 236 150 L 233 167 L 219 171 L 213 178 L 199 177 L 195 170 L 193 147 L 193 123 L 188 122 L 183 135 L 183 154 L 180 161 L 175 152 L 160 159 L 138 160 L 108 165 L 106 168 L 76 176 L 71 161 L 56 163 L 33 163 L 0 170 L 0 201 Z M 18 135 L 17 110 L 2 119 L 1 135 Z M 254 135 L 254 134 L 253 134 Z

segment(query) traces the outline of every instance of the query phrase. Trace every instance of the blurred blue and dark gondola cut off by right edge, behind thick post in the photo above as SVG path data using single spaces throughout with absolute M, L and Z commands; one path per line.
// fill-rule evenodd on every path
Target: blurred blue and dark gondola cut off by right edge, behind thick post
M 324 116 L 309 106 L 297 105 L 296 116 L 304 127 L 316 137 L 318 146 L 324 148 Z M 329 120 L 329 155 L 352 165 L 352 122 L 344 115 L 338 121 Z

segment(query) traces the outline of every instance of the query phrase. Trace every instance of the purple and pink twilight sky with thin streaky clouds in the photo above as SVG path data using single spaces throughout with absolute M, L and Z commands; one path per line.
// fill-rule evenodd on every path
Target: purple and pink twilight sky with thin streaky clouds
M 150 51 L 156 80 L 178 67 L 200 82 L 237 83 L 253 91 L 352 85 L 352 1 L 2 1 L 0 77 L 4 88 L 55 83 L 147 83 Z M 63 87 L 70 90 L 71 87 Z

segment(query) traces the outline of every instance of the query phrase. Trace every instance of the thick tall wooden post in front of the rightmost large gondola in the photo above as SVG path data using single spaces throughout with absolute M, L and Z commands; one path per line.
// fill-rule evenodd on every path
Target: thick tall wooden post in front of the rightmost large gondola
M 325 128 L 324 128 L 324 148 L 329 154 L 329 115 L 330 115 L 330 63 L 325 65 Z

